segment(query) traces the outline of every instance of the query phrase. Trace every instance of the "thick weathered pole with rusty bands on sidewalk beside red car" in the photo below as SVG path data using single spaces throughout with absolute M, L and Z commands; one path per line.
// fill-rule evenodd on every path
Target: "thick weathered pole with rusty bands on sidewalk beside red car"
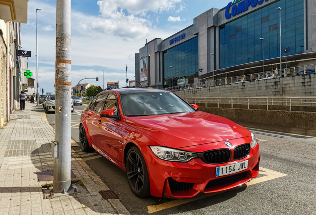
M 71 81 L 71 0 L 57 0 L 54 193 L 71 186 Z

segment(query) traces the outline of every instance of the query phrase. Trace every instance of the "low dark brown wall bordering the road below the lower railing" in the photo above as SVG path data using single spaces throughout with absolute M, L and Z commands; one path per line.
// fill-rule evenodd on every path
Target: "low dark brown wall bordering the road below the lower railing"
M 200 110 L 245 127 L 316 136 L 316 112 L 205 107 Z

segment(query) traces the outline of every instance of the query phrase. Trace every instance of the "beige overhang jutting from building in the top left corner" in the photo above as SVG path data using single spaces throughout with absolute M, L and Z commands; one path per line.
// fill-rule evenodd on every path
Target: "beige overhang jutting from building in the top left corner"
M 28 0 L 0 0 L 0 19 L 27 23 Z

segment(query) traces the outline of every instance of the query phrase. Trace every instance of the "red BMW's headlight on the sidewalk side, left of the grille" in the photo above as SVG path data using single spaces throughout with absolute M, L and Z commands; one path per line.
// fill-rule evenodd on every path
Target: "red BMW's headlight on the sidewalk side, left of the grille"
M 196 152 L 187 152 L 162 146 L 151 146 L 151 149 L 158 158 L 167 161 L 187 162 L 198 157 Z

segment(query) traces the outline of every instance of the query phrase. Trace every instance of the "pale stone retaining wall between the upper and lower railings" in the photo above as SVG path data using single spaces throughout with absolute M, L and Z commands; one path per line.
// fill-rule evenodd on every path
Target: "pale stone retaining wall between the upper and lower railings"
M 199 97 L 308 97 L 316 96 L 316 73 L 233 85 L 175 92 L 182 98 Z

